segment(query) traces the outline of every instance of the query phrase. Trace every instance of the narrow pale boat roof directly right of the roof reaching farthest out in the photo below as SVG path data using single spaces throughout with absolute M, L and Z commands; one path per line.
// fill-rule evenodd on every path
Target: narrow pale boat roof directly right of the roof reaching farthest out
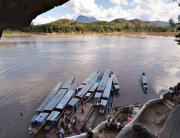
M 102 98 L 107 99 L 107 100 L 109 99 L 109 96 L 110 96 L 110 93 L 111 93 L 111 87 L 112 87 L 112 78 L 109 77 L 108 81 L 107 81 L 107 84 L 106 84 L 106 87 L 104 89 Z

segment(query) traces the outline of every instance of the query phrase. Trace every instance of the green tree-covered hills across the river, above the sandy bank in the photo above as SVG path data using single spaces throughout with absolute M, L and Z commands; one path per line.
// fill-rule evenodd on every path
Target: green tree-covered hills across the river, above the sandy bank
M 43 25 L 31 25 L 21 31 L 42 33 L 112 33 L 112 32 L 171 32 L 173 27 L 158 26 L 138 19 L 115 19 L 111 22 L 80 23 L 68 19 Z

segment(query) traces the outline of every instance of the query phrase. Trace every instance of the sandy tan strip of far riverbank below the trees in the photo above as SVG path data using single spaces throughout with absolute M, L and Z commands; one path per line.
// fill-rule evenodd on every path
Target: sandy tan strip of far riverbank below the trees
M 26 33 L 19 31 L 5 31 L 3 37 L 26 37 L 26 36 L 44 36 L 44 37 L 61 37 L 61 36 L 161 36 L 174 37 L 176 32 L 114 32 L 114 33 Z

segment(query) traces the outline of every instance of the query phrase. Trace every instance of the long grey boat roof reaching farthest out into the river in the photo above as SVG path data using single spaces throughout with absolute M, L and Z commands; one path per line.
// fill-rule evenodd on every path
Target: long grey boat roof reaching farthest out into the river
M 97 87 L 96 91 L 99 91 L 99 92 L 104 91 L 110 73 L 111 73 L 111 71 L 109 69 L 106 69 L 106 71 L 104 72 L 104 74 L 102 76 L 102 79 L 101 79 L 101 81 L 99 83 L 99 86 Z

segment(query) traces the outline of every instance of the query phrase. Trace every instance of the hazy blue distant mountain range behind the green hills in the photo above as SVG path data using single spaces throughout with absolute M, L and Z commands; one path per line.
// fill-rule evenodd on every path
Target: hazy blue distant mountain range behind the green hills
M 123 22 L 128 22 L 128 21 L 131 21 L 131 20 L 126 20 L 126 19 L 123 19 L 123 18 L 118 18 L 118 19 L 115 19 L 113 21 L 117 21 L 119 20 L 119 23 L 123 23 Z M 138 19 L 134 19 L 134 20 L 138 20 Z M 97 22 L 99 20 L 97 20 L 95 17 L 90 17 L 90 16 L 84 16 L 84 15 L 79 15 L 77 17 L 76 20 L 73 20 L 75 22 L 79 22 L 79 23 L 93 23 L 93 22 Z M 111 22 L 113 22 L 111 21 Z M 139 20 L 141 21 L 141 20 Z M 160 26 L 169 26 L 169 23 L 168 22 L 164 22 L 164 21 L 142 21 L 144 23 L 147 23 L 147 24 L 155 24 L 155 25 L 160 25 Z

